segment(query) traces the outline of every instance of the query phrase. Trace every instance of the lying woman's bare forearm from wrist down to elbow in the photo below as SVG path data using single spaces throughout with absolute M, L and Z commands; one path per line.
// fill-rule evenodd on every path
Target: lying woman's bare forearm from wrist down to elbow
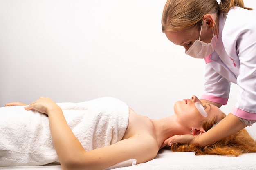
M 67 125 L 61 108 L 54 108 L 48 116 L 52 140 L 62 166 L 78 161 L 80 153 L 86 151 Z

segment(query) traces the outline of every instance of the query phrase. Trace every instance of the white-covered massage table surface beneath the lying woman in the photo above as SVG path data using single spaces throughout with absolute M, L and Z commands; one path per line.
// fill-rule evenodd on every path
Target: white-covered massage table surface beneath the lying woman
M 61 170 L 60 165 L 0 167 L 0 170 Z M 146 163 L 115 170 L 256 170 L 256 153 L 238 157 L 199 155 L 194 152 L 172 152 L 161 149 L 157 156 Z

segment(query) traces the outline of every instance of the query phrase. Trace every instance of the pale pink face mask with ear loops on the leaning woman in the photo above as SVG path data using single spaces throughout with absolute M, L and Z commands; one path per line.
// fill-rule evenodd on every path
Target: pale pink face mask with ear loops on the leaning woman
M 203 26 L 203 24 L 202 24 Z M 189 55 L 194 58 L 205 58 L 211 53 L 213 53 L 216 43 L 217 43 L 217 35 L 214 35 L 213 33 L 213 28 L 212 28 L 212 33 L 213 33 L 213 38 L 211 39 L 211 43 L 205 43 L 200 40 L 201 37 L 201 32 L 202 32 L 202 26 L 201 26 L 201 31 L 199 35 L 199 39 L 195 40 L 195 42 L 191 45 L 188 51 L 185 52 L 186 55 Z

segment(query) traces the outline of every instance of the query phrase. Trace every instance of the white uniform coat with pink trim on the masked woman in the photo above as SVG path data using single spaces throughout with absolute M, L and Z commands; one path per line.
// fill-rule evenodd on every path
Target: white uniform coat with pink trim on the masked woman
M 256 11 L 235 7 L 220 14 L 215 51 L 205 58 L 205 90 L 201 99 L 227 104 L 230 82 L 238 84 L 232 114 L 256 120 Z

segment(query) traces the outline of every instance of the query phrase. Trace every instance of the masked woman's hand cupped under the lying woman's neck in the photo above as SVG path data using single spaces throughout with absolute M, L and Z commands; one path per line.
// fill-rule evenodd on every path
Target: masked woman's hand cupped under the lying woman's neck
M 198 136 L 195 135 L 174 135 L 164 141 L 161 147 L 171 146 L 174 143 L 192 144 L 195 143 Z

